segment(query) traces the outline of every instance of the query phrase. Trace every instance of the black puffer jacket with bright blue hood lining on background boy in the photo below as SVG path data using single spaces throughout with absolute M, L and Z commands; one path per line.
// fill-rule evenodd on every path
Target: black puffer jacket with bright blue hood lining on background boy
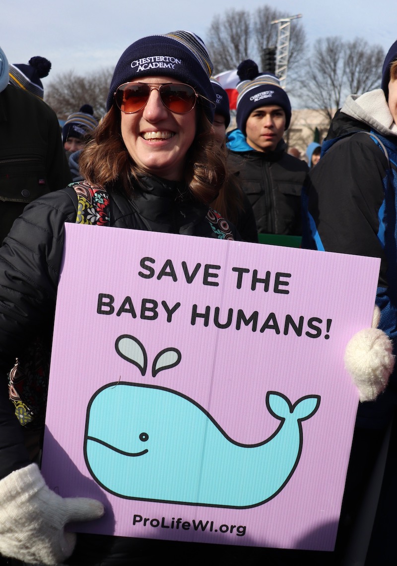
M 259 234 L 301 235 L 301 192 L 309 171 L 304 161 L 286 153 L 281 140 L 275 151 L 255 151 L 246 144 L 240 130 L 228 137 L 230 169 L 254 211 Z

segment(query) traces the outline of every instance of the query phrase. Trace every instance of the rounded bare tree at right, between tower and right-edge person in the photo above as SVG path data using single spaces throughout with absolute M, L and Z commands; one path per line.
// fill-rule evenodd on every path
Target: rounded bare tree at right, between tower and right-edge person
M 320 109 L 330 123 L 347 95 L 362 94 L 380 82 L 384 58 L 381 47 L 361 38 L 318 39 L 300 80 L 301 100 Z

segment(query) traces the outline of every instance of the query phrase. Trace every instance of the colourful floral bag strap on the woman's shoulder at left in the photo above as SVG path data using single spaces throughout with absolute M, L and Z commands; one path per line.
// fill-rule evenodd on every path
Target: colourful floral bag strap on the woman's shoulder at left
M 72 183 L 77 199 L 78 209 L 76 224 L 110 225 L 110 204 L 108 192 L 103 188 L 92 187 L 87 181 Z

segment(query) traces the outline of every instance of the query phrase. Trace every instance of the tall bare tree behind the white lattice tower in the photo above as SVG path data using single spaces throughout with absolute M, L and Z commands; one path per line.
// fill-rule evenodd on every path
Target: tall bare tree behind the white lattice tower
M 215 16 L 207 33 L 206 45 L 214 62 L 215 73 L 237 68 L 244 59 L 254 59 L 259 70 L 263 65 L 263 48 L 277 44 L 278 27 L 275 19 L 284 12 L 270 6 L 246 10 L 228 10 Z M 291 22 L 288 66 L 296 66 L 306 49 L 306 36 L 300 20 Z

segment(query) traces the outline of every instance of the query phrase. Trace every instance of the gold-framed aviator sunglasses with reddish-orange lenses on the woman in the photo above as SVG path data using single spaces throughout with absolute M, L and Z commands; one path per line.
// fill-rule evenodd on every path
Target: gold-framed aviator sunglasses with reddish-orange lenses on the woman
M 175 114 L 187 114 L 193 110 L 199 96 L 208 100 L 205 96 L 198 95 L 189 84 L 183 83 L 165 83 L 159 87 L 153 87 L 153 84 L 147 83 L 124 83 L 114 93 L 114 100 L 121 112 L 134 114 L 144 108 L 152 90 L 159 92 L 160 100 L 165 108 Z M 211 100 L 208 102 L 215 106 Z

